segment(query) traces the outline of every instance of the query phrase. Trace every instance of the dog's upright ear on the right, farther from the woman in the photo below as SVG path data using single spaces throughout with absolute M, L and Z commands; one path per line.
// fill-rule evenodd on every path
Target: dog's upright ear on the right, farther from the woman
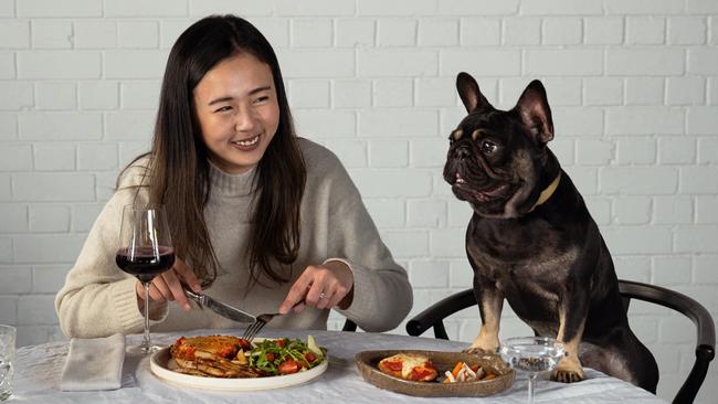
M 543 146 L 553 139 L 551 108 L 541 82 L 535 79 L 526 87 L 515 109 L 537 143 Z

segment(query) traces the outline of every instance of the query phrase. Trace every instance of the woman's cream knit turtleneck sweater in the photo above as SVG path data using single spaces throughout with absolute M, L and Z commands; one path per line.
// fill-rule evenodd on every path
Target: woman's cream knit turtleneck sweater
M 412 290 L 405 270 L 381 242 L 357 188 L 337 157 L 309 140 L 299 140 L 307 166 L 302 200 L 300 248 L 293 281 L 308 265 L 339 259 L 353 273 L 353 301 L 341 315 L 366 331 L 395 328 L 412 306 Z M 141 164 L 146 161 L 140 161 Z M 115 264 L 122 209 L 135 200 L 141 169 L 130 169 L 117 192 L 95 221 L 87 240 L 57 293 L 55 308 L 62 330 L 68 337 L 94 338 L 116 332 L 141 332 L 144 317 L 135 293 L 136 278 Z M 204 219 L 220 264 L 208 295 L 252 313 L 275 312 L 292 283 L 255 285 L 246 294 L 247 263 L 244 251 L 250 231 L 250 194 L 253 170 L 231 176 L 211 168 L 211 194 Z M 138 202 L 148 199 L 140 188 Z M 268 287 L 267 287 L 268 286 Z M 152 302 L 152 331 L 242 327 L 192 306 L 184 312 L 175 302 Z M 267 327 L 326 329 L 329 310 L 307 308 L 302 313 L 275 318 Z

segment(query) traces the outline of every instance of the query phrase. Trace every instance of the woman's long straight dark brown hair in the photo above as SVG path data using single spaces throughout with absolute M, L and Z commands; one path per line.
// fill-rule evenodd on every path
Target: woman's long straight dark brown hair
M 219 262 L 203 216 L 210 195 L 210 164 L 194 113 L 193 91 L 207 72 L 240 52 L 252 54 L 272 68 L 279 106 L 277 131 L 254 171 L 252 230 L 245 252 L 250 285 L 260 281 L 262 274 L 276 283 L 288 281 L 291 273 L 278 270 L 276 263 L 291 268 L 299 249 L 299 204 L 306 167 L 277 57 L 270 42 L 246 20 L 207 17 L 188 28 L 170 51 L 152 148 L 147 153 L 150 202 L 166 205 L 175 248 L 204 287 L 217 278 Z

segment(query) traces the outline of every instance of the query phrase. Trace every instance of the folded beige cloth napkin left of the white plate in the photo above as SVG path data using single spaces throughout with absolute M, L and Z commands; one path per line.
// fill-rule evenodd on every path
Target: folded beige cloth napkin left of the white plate
M 60 390 L 117 390 L 122 385 L 125 336 L 73 338 L 62 370 Z

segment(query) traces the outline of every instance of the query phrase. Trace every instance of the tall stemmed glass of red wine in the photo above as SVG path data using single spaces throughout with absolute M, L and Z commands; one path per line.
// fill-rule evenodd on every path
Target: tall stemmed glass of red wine
M 157 347 L 150 344 L 149 338 L 149 286 L 157 275 L 175 264 L 175 248 L 162 205 L 123 208 L 119 248 L 115 262 L 122 270 L 137 277 L 145 287 L 145 334 L 139 351 L 154 352 Z

